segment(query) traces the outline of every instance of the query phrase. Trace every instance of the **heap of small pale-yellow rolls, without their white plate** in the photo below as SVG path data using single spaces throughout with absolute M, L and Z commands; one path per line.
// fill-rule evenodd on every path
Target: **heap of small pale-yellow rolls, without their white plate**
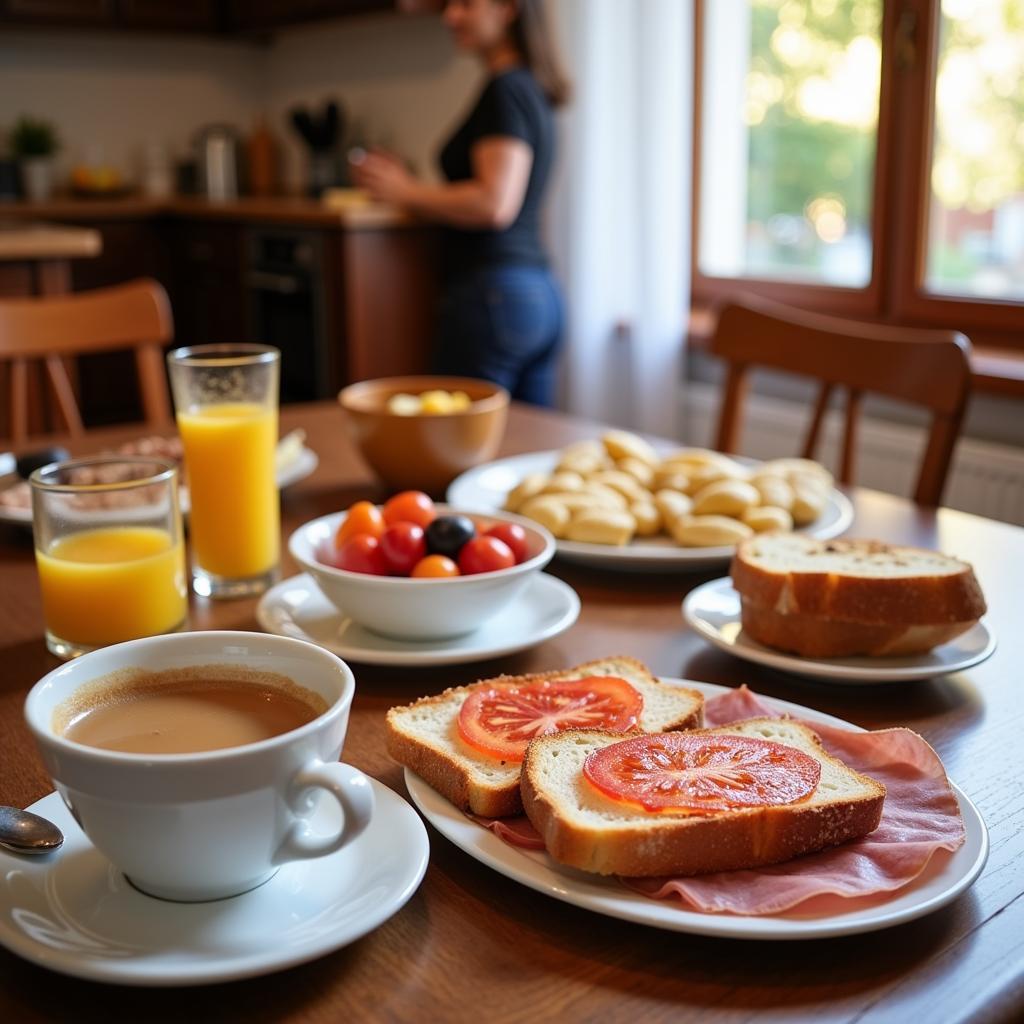
M 696 447 L 662 457 L 643 438 L 611 430 L 563 449 L 551 473 L 531 473 L 508 493 L 505 508 L 567 541 L 626 545 L 667 535 L 682 547 L 719 547 L 812 523 L 831 487 L 831 474 L 809 459 L 750 466 Z

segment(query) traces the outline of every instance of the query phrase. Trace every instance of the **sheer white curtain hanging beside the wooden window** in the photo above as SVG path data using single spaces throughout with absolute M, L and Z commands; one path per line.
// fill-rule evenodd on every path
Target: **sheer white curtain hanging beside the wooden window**
M 568 312 L 564 404 L 678 436 L 692 0 L 555 0 L 552 9 L 573 86 L 551 207 Z

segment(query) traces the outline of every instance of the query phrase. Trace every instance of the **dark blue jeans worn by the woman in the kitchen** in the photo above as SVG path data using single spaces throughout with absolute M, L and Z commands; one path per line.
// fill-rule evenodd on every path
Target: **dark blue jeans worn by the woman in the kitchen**
M 550 270 L 481 267 L 441 296 L 434 372 L 478 377 L 513 398 L 553 406 L 562 323 L 562 297 Z

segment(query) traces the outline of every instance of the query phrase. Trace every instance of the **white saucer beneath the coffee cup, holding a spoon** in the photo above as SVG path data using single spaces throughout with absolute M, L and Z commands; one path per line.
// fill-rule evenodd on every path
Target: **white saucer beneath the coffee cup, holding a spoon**
M 377 802 L 350 846 L 286 864 L 258 889 L 209 903 L 171 903 L 133 889 L 85 838 L 55 793 L 30 810 L 55 821 L 46 857 L 0 850 L 0 944 L 79 978 L 122 985 L 205 985 L 323 956 L 383 924 L 416 892 L 430 845 L 416 812 L 370 780 Z M 340 812 L 323 801 L 321 830 Z

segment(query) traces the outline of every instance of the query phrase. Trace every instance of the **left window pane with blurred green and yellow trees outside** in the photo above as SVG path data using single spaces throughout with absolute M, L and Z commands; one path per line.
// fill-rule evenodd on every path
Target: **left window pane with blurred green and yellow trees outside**
M 706 4 L 702 273 L 868 283 L 881 33 L 882 0 Z

